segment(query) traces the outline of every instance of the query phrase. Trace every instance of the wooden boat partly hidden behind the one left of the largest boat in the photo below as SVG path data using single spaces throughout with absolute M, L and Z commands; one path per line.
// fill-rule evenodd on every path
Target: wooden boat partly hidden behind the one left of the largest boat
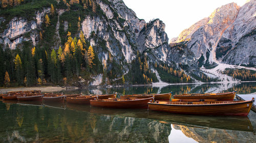
M 155 100 L 170 100 L 172 93 L 164 93 L 164 94 L 137 94 L 137 95 L 123 95 L 120 98 L 150 98 L 155 97 Z

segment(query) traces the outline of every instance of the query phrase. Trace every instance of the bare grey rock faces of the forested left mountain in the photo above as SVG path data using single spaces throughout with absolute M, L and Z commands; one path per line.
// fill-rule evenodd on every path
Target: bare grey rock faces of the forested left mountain
M 143 19 L 139 19 L 134 11 L 127 8 L 121 0 L 95 0 L 94 2 L 100 12 L 85 14 L 80 21 L 81 30 L 86 40 L 90 41 L 94 47 L 103 65 L 107 64 L 111 58 L 120 66 L 121 72 L 116 78 L 120 78 L 129 71 L 129 64 L 135 59 L 137 51 L 146 54 L 150 63 L 171 63 L 167 57 L 170 49 L 167 34 L 164 32 L 165 24 L 161 20 L 156 19 L 146 23 Z M 40 37 L 39 31 L 42 30 L 42 22 L 45 21 L 45 15 L 49 11 L 50 8 L 45 8 L 35 12 L 36 16 L 32 18 L 34 20 L 14 17 L 8 23 L 8 28 L 0 34 L 0 43 L 12 49 L 15 49 L 17 44 L 23 41 L 31 41 L 35 46 Z M 59 31 L 63 30 L 67 33 L 70 27 L 70 21 L 60 18 L 65 11 L 65 9 L 56 10 L 58 15 L 56 36 L 53 37 L 56 40 L 51 48 L 57 49 L 59 46 L 63 46 L 60 44 L 62 41 Z M 2 17 L 0 20 L 4 21 L 5 19 Z M 112 65 L 107 65 L 107 67 L 111 69 Z M 150 65 L 150 67 L 153 66 Z

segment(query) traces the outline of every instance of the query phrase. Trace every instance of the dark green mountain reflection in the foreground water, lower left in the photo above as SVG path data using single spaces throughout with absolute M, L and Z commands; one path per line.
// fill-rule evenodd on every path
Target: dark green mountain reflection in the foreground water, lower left
M 4 103 L 0 106 L 3 142 L 167 142 L 170 132 L 169 124 L 146 118 L 29 104 L 11 104 L 9 110 Z

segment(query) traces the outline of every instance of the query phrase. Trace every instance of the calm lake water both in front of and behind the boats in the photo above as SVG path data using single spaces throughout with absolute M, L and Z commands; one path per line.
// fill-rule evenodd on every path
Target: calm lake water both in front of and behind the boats
M 170 85 L 64 94 L 256 92 L 256 84 Z M 0 142 L 255 142 L 256 113 L 248 117 L 178 115 L 147 109 L 0 101 Z

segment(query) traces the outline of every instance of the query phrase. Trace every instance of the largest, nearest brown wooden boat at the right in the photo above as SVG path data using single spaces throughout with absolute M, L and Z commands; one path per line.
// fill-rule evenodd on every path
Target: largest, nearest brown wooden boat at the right
M 155 103 L 148 102 L 148 108 L 151 110 L 194 115 L 247 116 L 253 100 L 254 98 L 251 101 L 157 101 Z

